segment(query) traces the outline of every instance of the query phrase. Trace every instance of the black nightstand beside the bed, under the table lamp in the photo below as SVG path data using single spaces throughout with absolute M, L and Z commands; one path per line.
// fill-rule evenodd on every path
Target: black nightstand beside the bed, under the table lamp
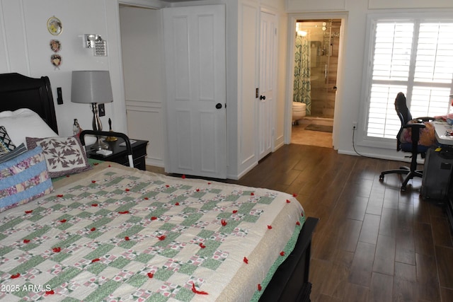
M 133 144 L 132 141 L 134 141 Z M 113 161 L 114 163 L 120 163 L 122 165 L 129 166 L 126 146 L 124 146 L 124 144 L 120 146 L 120 144 L 123 142 L 124 139 L 120 137 L 116 141 L 105 141 L 105 143 L 108 144 L 108 150 L 113 151 L 113 153 L 108 156 L 96 154 L 96 150 L 91 150 L 91 146 L 86 146 L 86 156 L 88 156 L 88 158 L 94 158 L 99 161 Z M 145 163 L 145 158 L 147 157 L 148 141 L 130 139 L 130 142 L 132 146 L 132 158 L 134 159 L 134 167 L 140 170 L 146 170 L 147 166 Z

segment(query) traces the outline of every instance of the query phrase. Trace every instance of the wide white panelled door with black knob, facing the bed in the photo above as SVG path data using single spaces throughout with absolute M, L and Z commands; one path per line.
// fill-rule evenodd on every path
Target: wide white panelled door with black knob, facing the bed
M 166 172 L 226 178 L 223 5 L 164 8 Z

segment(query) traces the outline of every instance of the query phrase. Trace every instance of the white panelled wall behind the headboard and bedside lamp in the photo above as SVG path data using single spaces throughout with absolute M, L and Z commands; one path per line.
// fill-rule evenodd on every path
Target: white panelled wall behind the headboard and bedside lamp
M 120 81 L 120 66 L 117 64 L 115 25 L 110 28 L 108 15 L 115 14 L 117 4 L 106 0 L 22 0 L 0 2 L 0 72 L 18 72 L 26 76 L 49 76 L 54 99 L 57 87 L 62 88 L 64 104 L 57 105 L 59 134 L 71 135 L 73 119 L 79 119 L 83 129 L 91 129 L 93 114 L 89 105 L 71 103 L 71 71 L 110 70 L 113 82 L 114 103 L 106 104 L 106 116 L 101 117 L 104 129 L 108 129 L 111 117 L 115 130 L 126 131 L 124 96 Z M 116 6 L 116 7 L 115 7 Z M 112 9 L 113 8 L 113 9 Z M 56 16 L 62 21 L 63 30 L 54 36 L 47 30 L 47 20 Z M 96 33 L 108 43 L 108 57 L 94 57 L 92 50 L 82 47 L 80 35 Z M 62 45 L 58 54 L 62 65 L 50 64 L 50 40 L 57 39 Z M 112 68 L 112 65 L 115 65 Z

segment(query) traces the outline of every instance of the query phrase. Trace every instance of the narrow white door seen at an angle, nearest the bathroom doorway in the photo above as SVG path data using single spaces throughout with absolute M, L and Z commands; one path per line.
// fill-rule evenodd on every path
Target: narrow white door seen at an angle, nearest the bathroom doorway
M 258 161 L 272 151 L 275 88 L 275 15 L 260 13 L 260 87 L 258 96 Z

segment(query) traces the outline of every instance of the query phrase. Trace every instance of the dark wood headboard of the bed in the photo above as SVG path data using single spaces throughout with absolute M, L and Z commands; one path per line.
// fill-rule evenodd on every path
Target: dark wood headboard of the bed
M 0 74 L 0 112 L 29 108 L 58 133 L 52 88 L 47 76 L 40 79 L 22 74 Z

